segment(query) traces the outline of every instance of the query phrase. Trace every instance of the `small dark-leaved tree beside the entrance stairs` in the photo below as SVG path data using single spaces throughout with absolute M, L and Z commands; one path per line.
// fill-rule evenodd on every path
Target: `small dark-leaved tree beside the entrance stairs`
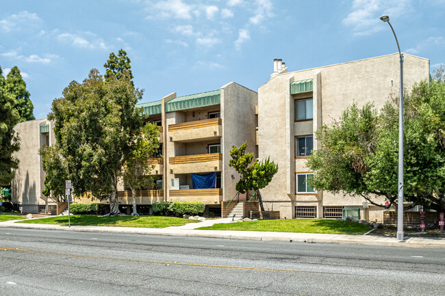
M 266 161 L 258 162 L 256 159 L 252 163 L 253 153 L 247 153 L 247 142 L 244 142 L 237 148 L 232 146 L 230 151 L 231 160 L 229 161 L 229 167 L 233 167 L 238 174 L 240 174 L 240 180 L 236 183 L 236 190 L 240 193 L 245 193 L 249 190 L 257 192 L 259 206 L 261 211 L 264 211 L 263 200 L 259 189 L 266 187 L 275 174 L 278 172 L 278 165 L 273 161 L 270 161 L 269 157 Z M 252 163 L 252 164 L 251 164 Z M 250 165 L 251 164 L 251 165 Z

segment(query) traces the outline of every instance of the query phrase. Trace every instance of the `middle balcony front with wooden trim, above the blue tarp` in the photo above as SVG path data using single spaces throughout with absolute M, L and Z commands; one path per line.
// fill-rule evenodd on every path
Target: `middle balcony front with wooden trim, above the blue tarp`
M 170 174 L 220 172 L 223 168 L 223 154 L 207 153 L 169 157 Z

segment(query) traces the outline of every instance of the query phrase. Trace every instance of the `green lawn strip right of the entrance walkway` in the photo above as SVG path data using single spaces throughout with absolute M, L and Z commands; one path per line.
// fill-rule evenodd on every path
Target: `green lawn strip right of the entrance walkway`
M 372 229 L 364 224 L 328 220 L 328 219 L 284 219 L 259 220 L 229 224 L 215 224 L 201 227 L 202 230 L 242 230 L 242 231 L 274 231 L 274 232 L 303 232 L 327 234 L 364 234 Z

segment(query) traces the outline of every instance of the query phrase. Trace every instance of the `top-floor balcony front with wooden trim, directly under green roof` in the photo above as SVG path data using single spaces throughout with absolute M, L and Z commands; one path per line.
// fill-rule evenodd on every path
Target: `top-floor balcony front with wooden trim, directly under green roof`
M 168 137 L 173 142 L 202 142 L 219 139 L 223 135 L 221 118 L 170 124 Z

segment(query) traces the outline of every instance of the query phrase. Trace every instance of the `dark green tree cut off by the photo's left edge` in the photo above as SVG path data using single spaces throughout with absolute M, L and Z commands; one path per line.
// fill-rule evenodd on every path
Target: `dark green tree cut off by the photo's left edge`
M 5 77 L 0 67 L 0 186 L 8 186 L 14 178 L 18 159 L 12 154 L 20 148 L 14 126 L 20 120 L 14 96 L 6 88 Z

